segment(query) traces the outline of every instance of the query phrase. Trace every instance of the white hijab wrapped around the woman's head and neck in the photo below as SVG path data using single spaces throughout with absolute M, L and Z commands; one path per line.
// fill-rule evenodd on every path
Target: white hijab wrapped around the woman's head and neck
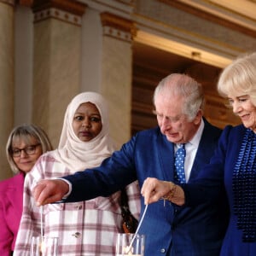
M 96 105 L 102 117 L 102 131 L 90 142 L 82 142 L 73 131 L 73 116 L 82 103 Z M 108 106 L 96 92 L 84 92 L 75 96 L 67 106 L 59 147 L 53 151 L 56 160 L 61 161 L 71 172 L 100 166 L 102 160 L 113 153 L 113 142 L 108 134 Z

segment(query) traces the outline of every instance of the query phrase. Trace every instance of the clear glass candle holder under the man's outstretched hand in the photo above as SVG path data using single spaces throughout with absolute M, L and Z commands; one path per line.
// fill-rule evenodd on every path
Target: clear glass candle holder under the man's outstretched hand
M 32 236 L 30 256 L 57 256 L 58 237 Z

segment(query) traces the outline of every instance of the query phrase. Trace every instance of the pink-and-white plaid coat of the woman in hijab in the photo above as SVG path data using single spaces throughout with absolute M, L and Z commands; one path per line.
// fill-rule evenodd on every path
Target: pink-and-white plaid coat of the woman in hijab
M 41 179 L 70 173 L 72 171 L 49 152 L 43 154 L 32 171 L 26 174 L 23 213 L 14 256 L 28 256 L 32 236 L 40 236 L 40 207 L 36 206 L 32 197 L 33 186 Z M 129 207 L 136 218 L 140 212 L 139 191 L 136 183 L 127 188 Z M 115 255 L 115 239 L 117 233 L 121 232 L 121 220 L 119 192 L 90 201 L 43 207 L 44 235 L 58 237 L 60 256 Z

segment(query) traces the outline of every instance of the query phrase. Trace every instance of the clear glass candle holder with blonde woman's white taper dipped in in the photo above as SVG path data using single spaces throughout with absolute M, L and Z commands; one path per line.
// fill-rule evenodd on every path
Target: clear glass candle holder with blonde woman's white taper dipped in
M 135 237 L 134 237 L 135 236 Z M 121 234 L 116 241 L 116 256 L 143 256 L 145 247 L 145 235 Z

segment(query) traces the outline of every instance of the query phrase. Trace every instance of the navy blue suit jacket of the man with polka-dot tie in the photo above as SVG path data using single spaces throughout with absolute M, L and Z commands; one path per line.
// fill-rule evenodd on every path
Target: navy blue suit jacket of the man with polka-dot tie
M 205 120 L 205 128 L 189 177 L 193 182 L 218 143 L 221 130 Z M 102 166 L 67 176 L 73 184 L 67 201 L 108 196 L 134 180 L 140 187 L 147 177 L 173 181 L 173 143 L 159 127 L 140 131 L 128 143 L 104 160 Z M 142 197 L 142 212 L 144 210 Z M 148 205 L 139 233 L 146 235 L 145 256 L 218 256 L 227 226 L 225 197 L 197 207 L 177 207 L 160 200 Z

